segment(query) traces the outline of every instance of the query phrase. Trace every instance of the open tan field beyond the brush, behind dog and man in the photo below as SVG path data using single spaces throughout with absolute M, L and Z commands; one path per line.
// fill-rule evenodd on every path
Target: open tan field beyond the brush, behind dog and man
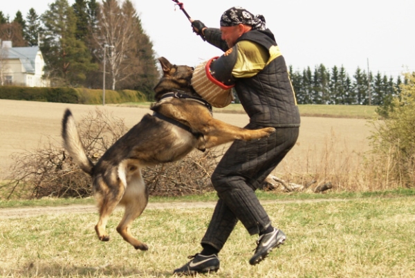
M 149 113 L 149 104 L 141 104 L 145 107 L 138 108 L 138 104 L 130 106 L 91 106 L 82 104 L 62 104 L 48 102 L 25 102 L 17 100 L 0 100 L 0 178 L 7 175 L 1 173 L 14 163 L 12 154 L 33 151 L 48 145 L 61 145 L 61 120 L 64 110 L 70 108 L 76 120 L 82 119 L 95 109 L 108 111 L 111 115 L 122 118 L 127 127 L 136 124 L 145 113 Z M 305 106 L 304 106 L 305 107 Z M 308 113 L 321 114 L 326 107 L 311 106 Z M 297 145 L 290 151 L 278 172 L 304 173 L 317 167 L 327 142 L 335 141 L 333 153 L 337 157 L 345 154 L 355 159 L 358 154 L 367 151 L 369 144 L 367 137 L 370 129 L 365 119 L 365 106 L 335 106 L 331 110 L 331 117 L 302 116 Z M 300 111 L 303 106 L 299 107 Z M 310 109 L 315 109 L 310 111 Z M 358 116 L 355 118 L 336 118 L 333 113 L 356 109 Z M 373 108 L 374 109 L 374 108 Z M 215 109 L 216 110 L 216 109 Z M 221 113 L 227 111 L 228 113 Z M 233 111 L 230 113 L 230 111 Z M 237 111 L 237 112 L 234 112 Z M 325 113 L 327 115 L 327 113 Z M 243 127 L 248 123 L 248 116 L 243 113 L 240 104 L 231 104 L 225 109 L 217 109 L 214 118 L 223 120 L 229 124 Z M 356 159 L 355 159 L 356 160 Z

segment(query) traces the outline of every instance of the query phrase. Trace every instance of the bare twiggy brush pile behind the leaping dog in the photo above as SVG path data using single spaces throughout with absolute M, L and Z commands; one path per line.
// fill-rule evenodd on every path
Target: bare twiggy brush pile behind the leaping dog
M 111 113 L 95 109 L 78 123 L 78 131 L 91 160 L 98 160 L 125 132 L 124 121 Z M 34 151 L 13 155 L 15 163 L 1 187 L 8 198 L 91 196 L 91 177 L 73 163 L 61 146 L 49 139 Z M 216 165 L 215 151 L 195 151 L 176 163 L 143 169 L 150 194 L 178 196 L 212 191 L 210 173 Z

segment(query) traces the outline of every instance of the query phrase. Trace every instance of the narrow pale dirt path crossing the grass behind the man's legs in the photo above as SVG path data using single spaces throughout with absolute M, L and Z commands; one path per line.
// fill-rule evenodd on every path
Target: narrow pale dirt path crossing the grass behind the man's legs
M 312 199 L 312 200 L 287 200 L 287 201 L 261 201 L 262 205 L 284 204 L 284 203 L 317 203 L 317 202 L 344 202 L 344 199 Z M 190 203 L 149 203 L 146 210 L 165 210 L 165 209 L 195 209 L 195 208 L 214 208 L 216 202 L 190 202 Z M 122 210 L 117 207 L 116 210 Z M 13 207 L 0 209 L 0 219 L 21 219 L 41 215 L 57 214 L 82 214 L 98 212 L 95 205 L 65 205 L 59 207 Z

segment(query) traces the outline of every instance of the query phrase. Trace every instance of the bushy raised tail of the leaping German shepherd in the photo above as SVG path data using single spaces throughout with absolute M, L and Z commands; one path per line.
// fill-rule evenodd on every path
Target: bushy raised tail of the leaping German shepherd
M 93 163 L 86 156 L 84 145 L 82 145 L 80 135 L 77 132 L 75 119 L 69 109 L 66 109 L 62 119 L 62 138 L 64 148 L 73 158 L 74 162 L 87 174 L 92 174 Z

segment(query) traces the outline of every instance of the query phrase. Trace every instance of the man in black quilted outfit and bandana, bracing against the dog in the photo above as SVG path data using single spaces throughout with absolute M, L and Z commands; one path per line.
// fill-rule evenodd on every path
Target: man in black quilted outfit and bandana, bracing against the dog
M 241 104 L 250 117 L 247 129 L 275 127 L 269 138 L 235 141 L 212 174 L 219 201 L 201 240 L 203 250 L 181 268 L 180 275 L 219 270 L 218 253 L 237 221 L 253 235 L 259 234 L 250 259 L 255 265 L 286 235 L 271 225 L 255 190 L 295 145 L 299 133 L 299 111 L 284 57 L 262 15 L 241 7 L 223 12 L 220 29 L 192 21 L 194 32 L 225 54 L 211 65 L 212 75 L 226 85 L 234 84 Z

